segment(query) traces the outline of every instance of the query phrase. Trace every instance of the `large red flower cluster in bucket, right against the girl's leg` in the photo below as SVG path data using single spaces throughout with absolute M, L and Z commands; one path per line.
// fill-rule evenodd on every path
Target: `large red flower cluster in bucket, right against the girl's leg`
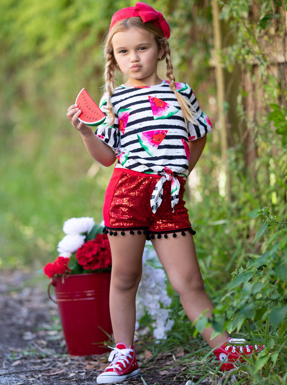
M 107 234 L 98 234 L 78 248 L 76 259 L 85 270 L 106 269 L 112 266 L 112 254 Z

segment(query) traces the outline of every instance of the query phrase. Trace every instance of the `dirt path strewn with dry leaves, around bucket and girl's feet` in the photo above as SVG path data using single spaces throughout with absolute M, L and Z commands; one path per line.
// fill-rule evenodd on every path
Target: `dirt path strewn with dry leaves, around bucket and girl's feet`
M 36 276 L 37 278 L 37 276 Z M 58 309 L 47 296 L 47 282 L 21 271 L 0 271 L 0 384 L 95 385 L 107 356 L 66 354 Z M 137 346 L 147 385 L 191 385 L 183 350 L 161 353 L 153 363 Z M 140 378 L 124 385 L 142 385 Z M 204 384 L 211 384 L 205 379 Z

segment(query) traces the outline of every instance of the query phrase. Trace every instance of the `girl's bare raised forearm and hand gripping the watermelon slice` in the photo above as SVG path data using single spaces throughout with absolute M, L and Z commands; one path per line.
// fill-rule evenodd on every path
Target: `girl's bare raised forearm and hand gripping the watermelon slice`
M 80 113 L 81 110 L 77 108 L 77 104 L 73 104 L 68 108 L 67 117 L 72 125 L 80 132 L 90 156 L 103 166 L 111 166 L 116 160 L 115 153 L 110 146 L 95 135 L 92 127 L 77 120 Z

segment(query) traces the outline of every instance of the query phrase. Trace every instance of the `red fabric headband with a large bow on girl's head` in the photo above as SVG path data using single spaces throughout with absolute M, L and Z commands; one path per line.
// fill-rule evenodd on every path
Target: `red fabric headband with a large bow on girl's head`
M 144 23 L 153 23 L 156 25 L 162 32 L 164 32 L 165 39 L 170 37 L 169 25 L 163 17 L 162 13 L 157 12 L 150 5 L 142 2 L 136 3 L 134 7 L 127 7 L 118 10 L 112 17 L 110 30 L 113 26 L 120 20 L 128 19 L 130 17 L 140 17 Z

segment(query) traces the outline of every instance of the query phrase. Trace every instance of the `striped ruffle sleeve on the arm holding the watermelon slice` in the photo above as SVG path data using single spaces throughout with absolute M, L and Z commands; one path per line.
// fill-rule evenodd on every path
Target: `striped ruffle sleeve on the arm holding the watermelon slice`
M 100 109 L 103 111 L 103 113 L 107 116 L 107 95 L 103 94 L 102 99 L 100 100 L 99 104 Z M 113 125 L 110 126 L 107 119 L 100 124 L 95 134 L 108 146 L 110 146 L 113 151 L 118 152 L 120 148 L 120 131 L 118 129 L 118 116 L 115 113 L 115 121 L 113 122 Z

